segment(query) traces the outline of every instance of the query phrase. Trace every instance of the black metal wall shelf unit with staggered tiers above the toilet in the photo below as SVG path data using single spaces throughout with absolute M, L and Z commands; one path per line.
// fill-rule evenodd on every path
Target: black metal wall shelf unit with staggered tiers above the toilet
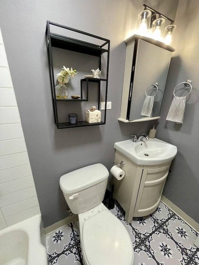
M 89 36 L 91 38 L 95 38 L 98 41 L 102 42 L 103 44 L 95 44 L 95 43 L 89 43 L 85 42 L 81 39 L 74 39 L 68 36 L 52 33 L 50 31 L 50 25 L 56 26 L 58 28 L 63 28 L 68 31 L 73 31 L 78 34 L 83 34 L 86 36 Z M 58 129 L 63 129 L 63 128 L 74 128 L 74 127 L 82 127 L 82 126 L 95 126 L 95 125 L 102 125 L 106 123 L 106 103 L 107 103 L 107 89 L 108 89 L 108 72 L 109 72 L 109 49 L 110 49 L 110 40 L 101 38 L 99 36 L 93 35 L 86 33 L 81 30 L 76 30 L 64 25 L 60 25 L 51 21 L 47 21 L 47 26 L 46 26 L 46 43 L 47 43 L 47 50 L 48 50 L 48 57 L 49 57 L 49 73 L 50 73 L 50 83 L 51 83 L 51 91 L 52 91 L 52 101 L 53 101 L 53 110 L 54 110 L 54 118 L 55 118 L 55 124 Z M 103 48 L 104 46 L 108 46 L 107 49 Z M 56 98 L 55 94 L 55 81 L 54 81 L 54 71 L 53 71 L 53 56 L 52 56 L 52 47 L 60 48 L 60 49 L 65 49 L 69 51 L 73 51 L 77 53 L 84 53 L 92 56 L 97 56 L 99 57 L 99 69 L 101 70 L 101 55 L 103 53 L 107 53 L 107 67 L 106 67 L 106 78 L 101 79 L 101 78 L 84 78 L 80 80 L 80 87 L 81 87 L 81 98 L 78 99 L 58 99 Z M 61 67 L 61 66 L 60 66 Z M 88 101 L 88 87 L 89 87 L 89 82 L 95 82 L 98 83 L 98 109 L 100 105 L 100 85 L 101 81 L 106 82 L 106 90 L 105 90 L 105 110 L 104 110 L 104 121 L 98 122 L 98 123 L 88 123 L 86 121 L 78 121 L 76 124 L 70 124 L 69 122 L 59 122 L 58 118 L 58 109 L 57 109 L 57 103 L 58 102 L 82 102 L 82 101 Z M 83 82 L 86 82 L 86 98 L 83 98 Z M 66 103 L 67 104 L 67 103 Z M 69 112 L 70 113 L 70 110 Z M 102 117 L 101 117 L 102 118 Z

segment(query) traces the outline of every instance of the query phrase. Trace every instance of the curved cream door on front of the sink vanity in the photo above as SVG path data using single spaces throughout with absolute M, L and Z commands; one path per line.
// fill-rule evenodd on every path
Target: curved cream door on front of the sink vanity
M 157 208 L 170 164 L 156 169 L 143 169 L 133 216 L 146 216 Z

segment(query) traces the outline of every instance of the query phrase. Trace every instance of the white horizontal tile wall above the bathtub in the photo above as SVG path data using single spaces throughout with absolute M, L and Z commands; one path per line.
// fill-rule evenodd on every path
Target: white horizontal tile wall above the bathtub
M 35 184 L 0 30 L 0 230 L 39 213 Z

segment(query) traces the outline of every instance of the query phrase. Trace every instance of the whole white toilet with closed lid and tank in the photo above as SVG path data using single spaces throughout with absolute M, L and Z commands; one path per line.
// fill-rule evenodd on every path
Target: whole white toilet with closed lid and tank
M 66 202 L 78 214 L 85 265 L 132 265 L 133 246 L 123 224 L 102 203 L 109 171 L 102 164 L 61 176 Z

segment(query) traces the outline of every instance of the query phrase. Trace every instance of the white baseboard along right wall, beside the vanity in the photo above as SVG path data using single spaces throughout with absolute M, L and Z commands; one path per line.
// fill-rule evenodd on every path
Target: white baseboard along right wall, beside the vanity
M 161 197 L 161 201 L 166 204 L 173 212 L 175 212 L 181 219 L 183 219 L 184 222 L 186 222 L 189 226 L 191 226 L 194 230 L 199 232 L 199 224 L 194 221 L 190 216 L 188 216 L 185 212 L 183 212 L 178 206 L 176 206 L 174 203 L 169 201 L 164 195 Z

